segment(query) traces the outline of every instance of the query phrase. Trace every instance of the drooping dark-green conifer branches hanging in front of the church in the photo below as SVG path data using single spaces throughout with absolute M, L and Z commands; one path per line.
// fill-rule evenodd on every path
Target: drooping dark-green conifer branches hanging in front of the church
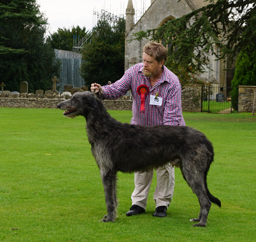
M 158 29 L 138 32 L 135 39 L 165 40 L 169 44 L 168 62 L 195 73 L 208 67 L 208 55 L 234 61 L 244 46 L 256 46 L 255 26 L 256 0 L 209 0 L 209 5 Z M 216 45 L 221 52 L 215 52 Z

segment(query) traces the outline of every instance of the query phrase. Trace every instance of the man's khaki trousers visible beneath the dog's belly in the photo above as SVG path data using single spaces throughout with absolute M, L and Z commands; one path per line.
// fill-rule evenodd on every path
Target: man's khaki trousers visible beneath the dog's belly
M 158 168 L 157 172 L 157 187 L 154 191 L 154 200 L 156 207 L 169 207 L 172 201 L 174 191 L 175 175 L 174 167 L 167 164 L 165 167 Z M 148 192 L 153 179 L 153 170 L 144 173 L 134 173 L 135 189 L 131 194 L 132 205 L 138 205 L 146 209 Z

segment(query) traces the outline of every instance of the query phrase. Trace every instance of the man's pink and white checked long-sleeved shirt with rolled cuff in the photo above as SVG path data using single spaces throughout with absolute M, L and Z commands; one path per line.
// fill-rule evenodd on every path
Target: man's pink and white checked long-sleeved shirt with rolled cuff
M 137 87 L 147 85 L 148 95 L 145 96 L 145 109 L 140 112 L 140 95 Z M 138 63 L 128 69 L 123 77 L 115 83 L 102 86 L 106 99 L 117 99 L 131 90 L 133 97 L 131 124 L 149 125 L 180 125 L 185 126 L 181 109 L 181 86 L 180 81 L 166 66 L 163 66 L 163 74 L 151 88 L 148 77 L 143 75 L 143 63 Z M 158 97 L 163 98 L 161 106 L 150 105 L 150 95 L 158 92 Z

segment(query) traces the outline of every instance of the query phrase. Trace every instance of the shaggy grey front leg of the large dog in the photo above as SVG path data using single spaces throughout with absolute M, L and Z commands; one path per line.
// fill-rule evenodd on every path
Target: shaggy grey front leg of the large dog
M 116 171 L 108 170 L 107 172 L 101 171 L 102 184 L 105 192 L 105 201 L 107 206 L 108 215 L 105 215 L 101 222 L 115 222 L 116 218 Z

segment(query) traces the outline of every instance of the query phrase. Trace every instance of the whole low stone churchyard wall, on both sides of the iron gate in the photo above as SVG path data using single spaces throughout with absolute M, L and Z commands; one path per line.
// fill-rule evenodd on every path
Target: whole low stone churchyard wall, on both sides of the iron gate
M 182 90 L 182 110 L 201 112 L 201 85 L 186 85 Z M 238 112 L 252 112 L 256 86 L 239 86 Z M 6 94 L 0 93 L 0 107 L 22 108 L 57 108 L 57 104 L 70 98 L 69 95 L 51 94 Z M 104 100 L 106 109 L 131 110 L 131 97 L 124 96 L 118 100 Z

